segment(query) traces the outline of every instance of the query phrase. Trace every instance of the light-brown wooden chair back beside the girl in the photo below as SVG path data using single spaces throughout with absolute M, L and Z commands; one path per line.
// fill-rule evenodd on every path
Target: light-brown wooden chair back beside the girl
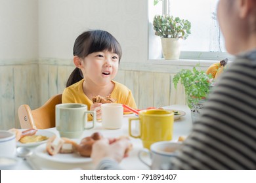
M 46 129 L 55 127 L 55 105 L 62 103 L 62 94 L 54 95 L 42 107 L 31 110 L 28 105 L 18 108 L 22 128 Z

